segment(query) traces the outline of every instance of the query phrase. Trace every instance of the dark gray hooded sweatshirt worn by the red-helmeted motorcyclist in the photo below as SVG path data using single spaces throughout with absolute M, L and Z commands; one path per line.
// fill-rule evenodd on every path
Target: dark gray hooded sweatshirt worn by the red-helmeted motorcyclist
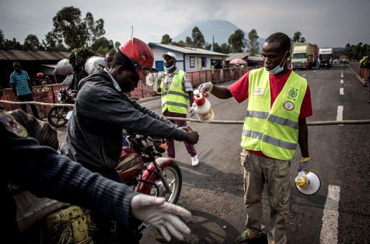
M 176 141 L 186 138 L 186 132 L 171 121 L 118 91 L 104 69 L 82 79 L 79 89 L 59 150 L 94 172 L 107 176 L 115 171 L 122 151 L 122 129 Z

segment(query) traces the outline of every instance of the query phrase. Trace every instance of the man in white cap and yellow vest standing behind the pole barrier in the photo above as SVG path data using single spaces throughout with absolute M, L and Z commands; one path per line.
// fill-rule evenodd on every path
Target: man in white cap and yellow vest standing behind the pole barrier
M 188 74 L 177 69 L 177 57 L 174 53 L 168 52 L 162 54 L 164 58 L 164 73 L 163 82 L 160 85 L 160 93 L 162 98 L 162 115 L 168 117 L 186 118 L 188 113 L 188 105 L 193 104 L 193 86 L 190 82 Z M 190 116 L 194 116 L 193 111 Z M 179 127 L 186 126 L 184 120 L 171 120 L 172 123 Z M 166 139 L 167 156 L 175 158 L 175 144 L 172 139 Z M 192 159 L 192 166 L 199 164 L 198 154 L 194 145 L 184 141 L 185 147 Z

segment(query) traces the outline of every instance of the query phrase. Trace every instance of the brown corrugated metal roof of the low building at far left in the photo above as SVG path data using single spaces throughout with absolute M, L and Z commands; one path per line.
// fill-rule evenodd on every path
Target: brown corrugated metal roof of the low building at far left
M 43 50 L 5 50 L 0 49 L 0 60 L 55 60 L 59 61 L 65 59 L 69 52 L 66 51 L 43 51 Z

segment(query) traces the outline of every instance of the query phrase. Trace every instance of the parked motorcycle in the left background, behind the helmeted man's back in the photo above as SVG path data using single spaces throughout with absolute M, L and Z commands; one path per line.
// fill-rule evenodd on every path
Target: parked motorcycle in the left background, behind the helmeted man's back
M 75 104 L 77 90 L 60 89 L 57 100 L 61 104 Z M 54 127 L 62 127 L 68 123 L 66 114 L 71 111 L 71 107 L 52 107 L 48 112 L 48 122 Z

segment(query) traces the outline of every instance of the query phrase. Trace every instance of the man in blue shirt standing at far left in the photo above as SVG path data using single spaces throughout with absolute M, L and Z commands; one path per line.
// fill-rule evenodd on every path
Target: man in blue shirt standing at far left
M 19 62 L 13 63 L 14 72 L 10 75 L 10 84 L 12 85 L 12 90 L 17 100 L 20 102 L 32 102 L 32 86 L 28 73 L 21 70 L 21 64 Z M 29 105 L 32 109 L 33 115 L 40 119 L 39 112 L 34 104 Z M 21 105 L 22 110 L 27 112 L 27 105 Z

